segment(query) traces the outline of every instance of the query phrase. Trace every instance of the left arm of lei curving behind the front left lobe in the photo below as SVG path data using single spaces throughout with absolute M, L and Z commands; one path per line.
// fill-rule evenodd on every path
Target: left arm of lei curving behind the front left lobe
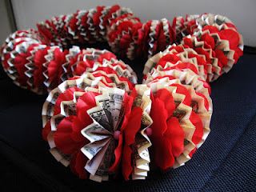
M 10 78 L 37 94 L 54 89 L 68 78 L 98 70 L 117 76 L 114 79 L 118 81 L 126 81 L 130 88 L 137 83 L 130 66 L 108 50 L 80 50 L 73 46 L 62 51 L 58 46 L 41 45 L 31 38 L 16 38 L 6 44 L 2 53 L 2 65 Z

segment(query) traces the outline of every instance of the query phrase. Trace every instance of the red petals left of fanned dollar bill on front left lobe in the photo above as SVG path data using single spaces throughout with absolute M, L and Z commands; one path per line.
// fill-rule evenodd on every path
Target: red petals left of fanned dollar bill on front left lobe
M 72 87 L 59 95 L 54 107 L 55 114 L 60 112 L 60 102 L 72 100 L 74 91 L 82 90 Z M 87 158 L 82 154 L 80 149 L 82 146 L 89 143 L 89 141 L 82 136 L 81 130 L 92 122 L 92 119 L 86 113 L 86 110 L 96 106 L 94 97 L 97 95 L 97 93 L 89 92 L 78 98 L 78 102 L 76 104 L 77 114 L 63 118 L 58 124 L 57 130 L 54 131 L 54 143 L 62 153 L 71 155 L 71 170 L 73 170 L 75 174 L 78 174 L 79 178 L 86 178 L 86 170 L 84 170 L 84 166 L 87 161 Z M 46 135 L 49 133 L 50 122 L 47 122 L 42 131 L 43 138 L 46 139 Z

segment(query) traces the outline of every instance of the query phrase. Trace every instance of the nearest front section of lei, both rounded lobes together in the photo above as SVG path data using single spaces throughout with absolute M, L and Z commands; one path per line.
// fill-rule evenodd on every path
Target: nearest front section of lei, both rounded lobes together
M 86 74 L 52 90 L 42 134 L 54 158 L 98 182 L 184 165 L 210 132 L 210 87 L 192 70 L 154 76 L 131 91 Z

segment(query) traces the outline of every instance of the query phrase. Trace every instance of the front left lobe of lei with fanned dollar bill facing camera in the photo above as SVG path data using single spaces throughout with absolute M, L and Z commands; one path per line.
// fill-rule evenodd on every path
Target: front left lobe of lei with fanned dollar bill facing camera
M 135 86 L 128 94 L 102 80 L 81 77 L 52 90 L 42 109 L 43 138 L 54 158 L 80 178 L 102 182 L 119 170 L 125 179 L 145 178 L 150 89 Z

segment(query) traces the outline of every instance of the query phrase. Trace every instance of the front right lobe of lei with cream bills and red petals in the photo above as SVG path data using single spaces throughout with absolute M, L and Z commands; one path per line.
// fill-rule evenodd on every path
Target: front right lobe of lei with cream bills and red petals
M 152 91 L 150 140 L 154 162 L 162 170 L 184 165 L 210 133 L 208 90 L 198 86 L 201 82 L 192 78 L 192 72 L 182 73 L 172 70 L 147 84 Z

